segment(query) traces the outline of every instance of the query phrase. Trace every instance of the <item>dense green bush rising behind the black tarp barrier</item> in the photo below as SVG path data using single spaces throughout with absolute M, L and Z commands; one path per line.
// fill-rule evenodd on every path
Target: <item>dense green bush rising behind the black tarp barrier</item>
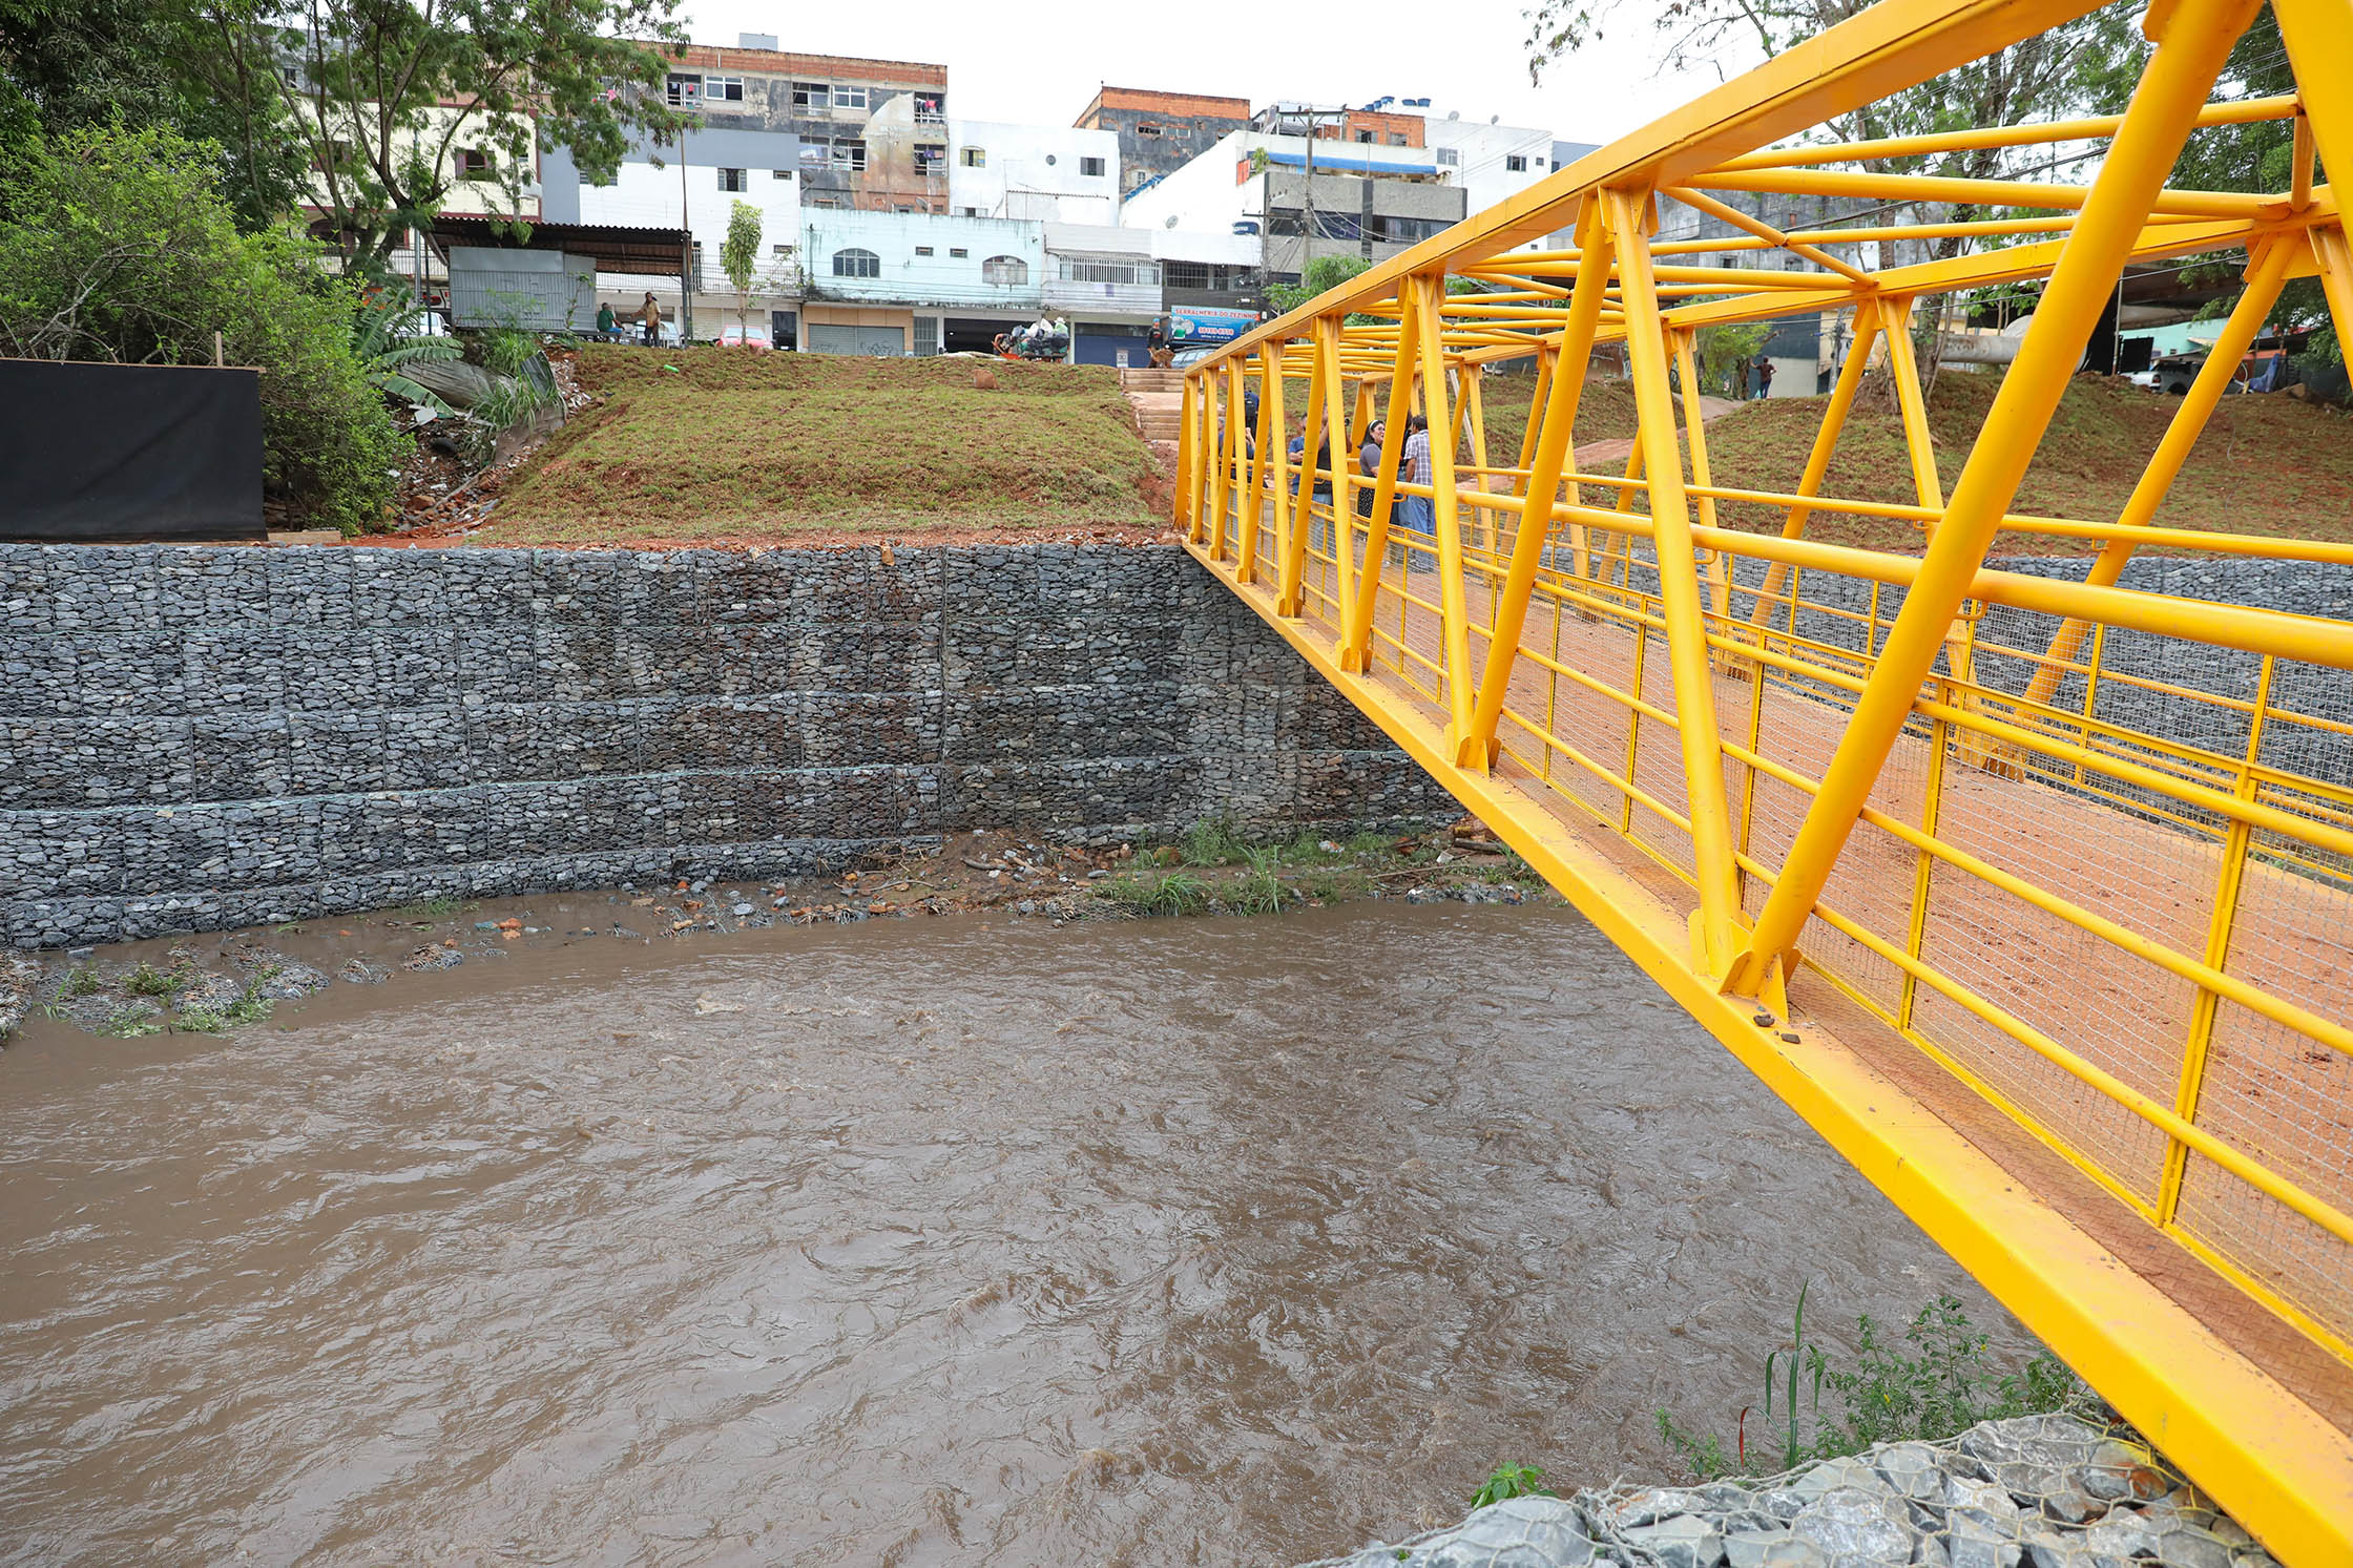
M 353 284 L 287 228 L 240 233 L 221 158 L 165 127 L 87 127 L 0 174 L 0 353 L 261 371 L 266 480 L 292 510 L 381 527 L 407 440 L 353 357 Z

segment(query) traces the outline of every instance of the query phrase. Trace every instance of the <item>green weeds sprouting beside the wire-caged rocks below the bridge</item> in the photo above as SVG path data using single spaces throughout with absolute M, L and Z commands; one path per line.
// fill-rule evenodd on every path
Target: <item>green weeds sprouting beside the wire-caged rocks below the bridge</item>
M 1875 1443 L 1948 1439 L 1981 1420 L 2089 1413 L 2094 1406 L 2082 1380 L 2047 1349 L 2019 1371 L 1998 1366 L 1988 1335 L 1969 1324 L 1953 1295 L 1920 1307 L 1901 1342 L 1889 1342 L 1880 1324 L 1861 1314 L 1854 1359 L 1845 1366 L 1807 1338 L 1805 1298 L 1800 1288 L 1788 1340 L 1765 1354 L 1765 1406 L 1753 1446 L 1748 1415 L 1755 1406 L 1734 1422 L 1729 1453 L 1722 1436 L 1659 1410 L 1659 1439 L 1692 1476 L 1795 1469 Z M 1824 1408 L 1824 1392 L 1833 1410 Z

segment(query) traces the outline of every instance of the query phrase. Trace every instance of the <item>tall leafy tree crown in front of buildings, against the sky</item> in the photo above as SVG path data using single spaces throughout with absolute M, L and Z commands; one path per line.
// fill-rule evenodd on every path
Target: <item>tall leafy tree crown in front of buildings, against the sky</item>
M 247 134 L 289 129 L 355 268 L 381 266 L 461 179 L 520 209 L 534 122 L 586 179 L 609 179 L 635 132 L 685 125 L 659 49 L 685 40 L 678 0 L 158 2 L 188 7 L 176 63 Z

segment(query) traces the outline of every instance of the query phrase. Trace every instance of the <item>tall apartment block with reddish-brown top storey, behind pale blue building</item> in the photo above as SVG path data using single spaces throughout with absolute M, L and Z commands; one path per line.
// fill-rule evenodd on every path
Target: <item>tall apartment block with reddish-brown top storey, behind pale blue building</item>
M 772 35 L 744 33 L 734 49 L 666 49 L 668 103 L 699 113 L 711 129 L 793 134 L 807 207 L 948 209 L 946 66 L 774 45 Z

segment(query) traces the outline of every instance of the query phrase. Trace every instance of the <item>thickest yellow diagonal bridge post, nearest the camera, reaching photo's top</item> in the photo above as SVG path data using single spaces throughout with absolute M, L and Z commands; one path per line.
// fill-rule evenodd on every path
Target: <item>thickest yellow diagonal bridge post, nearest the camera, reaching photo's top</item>
M 2198 110 L 2214 89 L 2224 59 L 2247 31 L 2254 5 L 2257 0 L 2179 0 L 2169 14 L 2151 12 L 2151 19 L 2162 19 L 2162 38 L 2141 73 L 2132 108 L 2115 127 L 2108 158 L 2052 268 L 2033 324 L 1969 447 L 1969 461 L 1953 487 L 1953 503 L 1929 536 L 1920 574 L 1904 595 L 1904 609 L 1854 698 L 1854 717 L 1847 719 L 1838 750 L 1821 773 L 1821 788 L 1798 825 L 1781 877 L 1758 912 L 1748 947 L 1725 971 L 1725 990 L 1753 997 L 1793 959 L 1798 936 L 1831 882 L 1831 867 L 1845 851 L 1864 802 L 1911 719 L 1920 682 L 1934 668 L 1986 545 L 1993 543 L 2019 494 L 2026 465 L 2075 374 L 2092 324 L 2108 308 L 2115 277 L 2165 188 Z M 2334 9 L 2344 9 L 2341 0 Z

